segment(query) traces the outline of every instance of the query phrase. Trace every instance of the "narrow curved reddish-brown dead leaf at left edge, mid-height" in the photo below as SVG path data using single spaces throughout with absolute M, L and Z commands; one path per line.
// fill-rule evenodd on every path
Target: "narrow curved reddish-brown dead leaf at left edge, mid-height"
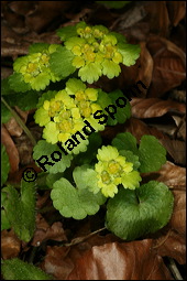
M 1 142 L 2 144 L 4 144 L 6 151 L 9 156 L 10 166 L 11 166 L 10 173 L 14 173 L 19 170 L 20 156 L 12 138 L 10 137 L 8 130 L 6 129 L 3 125 L 1 126 Z

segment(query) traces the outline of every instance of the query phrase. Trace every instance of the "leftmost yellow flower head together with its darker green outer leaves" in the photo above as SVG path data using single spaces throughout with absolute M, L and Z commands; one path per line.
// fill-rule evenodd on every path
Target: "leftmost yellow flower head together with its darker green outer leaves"
M 57 44 L 45 43 L 31 45 L 29 54 L 16 58 L 13 64 L 14 74 L 9 78 L 11 88 L 15 91 L 44 90 L 50 82 L 59 80 L 50 66 L 51 54 L 57 47 Z

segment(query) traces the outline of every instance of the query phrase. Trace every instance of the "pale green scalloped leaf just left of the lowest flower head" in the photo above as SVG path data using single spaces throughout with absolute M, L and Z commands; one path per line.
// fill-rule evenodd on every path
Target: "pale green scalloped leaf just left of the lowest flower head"
M 75 188 L 66 179 L 55 182 L 51 193 L 53 205 L 65 217 L 82 219 L 95 215 L 103 204 L 100 194 L 94 194 L 87 188 Z

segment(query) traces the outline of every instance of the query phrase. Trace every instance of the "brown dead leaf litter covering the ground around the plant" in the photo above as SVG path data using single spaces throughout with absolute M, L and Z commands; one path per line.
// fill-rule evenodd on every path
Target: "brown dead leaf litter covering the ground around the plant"
M 147 86 L 141 97 L 132 97 L 131 119 L 125 125 L 108 127 L 101 136 L 110 142 L 118 132 L 129 131 L 138 143 L 143 134 L 155 136 L 167 150 L 168 161 L 158 172 L 142 174 L 143 181 L 164 182 L 175 197 L 174 213 L 166 227 L 145 239 L 125 242 L 103 229 L 105 210 L 81 223 L 65 219 L 52 207 L 47 192 L 41 190 L 31 244 L 21 241 L 12 229 L 3 230 L 3 259 L 24 257 L 57 280 L 173 280 L 175 274 L 165 257 L 177 264 L 186 263 L 186 106 L 179 96 L 186 89 L 185 48 L 184 37 L 177 35 L 185 29 L 184 3 L 141 1 L 116 10 L 96 1 L 81 4 L 77 1 L 1 2 L 3 77 L 11 72 L 13 60 L 28 54 L 31 43 L 59 43 L 55 30 L 79 20 L 105 24 L 112 31 L 120 31 L 130 43 L 141 44 L 141 56 L 135 65 L 122 67 L 121 75 L 112 82 L 106 83 L 101 77 L 96 83 L 105 90 L 119 87 L 124 93 L 138 80 Z M 32 129 L 33 111 L 28 110 L 23 116 Z M 38 128 L 33 130 L 40 139 Z M 9 181 L 18 183 L 22 169 L 33 165 L 33 147 L 13 119 L 1 126 L 1 136 L 11 165 Z M 40 214 L 42 209 L 44 213 Z M 99 229 L 99 234 L 90 236 Z M 185 279 L 184 267 L 179 270 Z

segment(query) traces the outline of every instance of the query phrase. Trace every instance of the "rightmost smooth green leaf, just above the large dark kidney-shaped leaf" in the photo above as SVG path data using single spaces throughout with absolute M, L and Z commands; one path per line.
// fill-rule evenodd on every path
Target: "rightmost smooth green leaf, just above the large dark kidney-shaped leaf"
M 166 162 L 166 150 L 154 136 L 143 136 L 139 148 L 140 172 L 158 171 Z

